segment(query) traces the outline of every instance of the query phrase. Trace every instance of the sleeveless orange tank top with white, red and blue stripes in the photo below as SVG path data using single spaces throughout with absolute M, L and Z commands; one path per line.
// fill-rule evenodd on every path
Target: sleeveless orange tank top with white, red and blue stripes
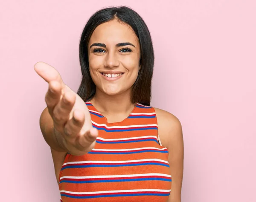
M 166 202 L 172 186 L 168 150 L 161 145 L 153 107 L 137 103 L 118 123 L 86 102 L 95 147 L 83 156 L 67 154 L 59 174 L 62 202 Z

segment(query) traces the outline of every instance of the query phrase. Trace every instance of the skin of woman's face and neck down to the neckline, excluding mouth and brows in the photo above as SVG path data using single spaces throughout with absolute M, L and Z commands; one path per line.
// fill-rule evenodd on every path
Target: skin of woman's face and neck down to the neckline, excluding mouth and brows
M 132 45 L 116 47 L 118 43 Z M 104 43 L 106 47 L 92 46 Z M 140 69 L 140 43 L 131 27 L 113 20 L 99 25 L 89 40 L 90 75 L 96 84 L 96 94 L 91 100 L 93 106 L 102 113 L 109 123 L 125 119 L 134 108 L 129 100 L 131 87 Z M 131 49 L 131 50 L 129 50 Z M 106 81 L 101 72 L 123 72 L 116 81 Z M 125 110 L 124 110 L 125 109 Z

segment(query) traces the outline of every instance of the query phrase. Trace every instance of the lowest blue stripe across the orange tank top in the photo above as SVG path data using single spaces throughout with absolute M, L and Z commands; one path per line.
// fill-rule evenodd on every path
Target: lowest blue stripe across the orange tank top
M 62 194 L 61 196 L 66 196 L 75 199 L 91 199 L 91 198 L 101 198 L 101 197 L 116 197 L 116 196 L 169 196 L 170 193 L 130 193 L 130 194 L 110 194 L 110 195 L 100 195 L 100 196 L 70 196 L 67 194 Z

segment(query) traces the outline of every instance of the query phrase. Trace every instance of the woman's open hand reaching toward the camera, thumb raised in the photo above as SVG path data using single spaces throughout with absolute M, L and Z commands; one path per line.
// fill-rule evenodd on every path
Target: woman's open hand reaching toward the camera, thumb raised
M 35 71 L 49 84 L 45 101 L 54 123 L 57 139 L 63 138 L 69 153 L 81 156 L 93 149 L 98 130 L 92 127 L 85 102 L 61 79 L 59 72 L 44 62 L 34 66 Z

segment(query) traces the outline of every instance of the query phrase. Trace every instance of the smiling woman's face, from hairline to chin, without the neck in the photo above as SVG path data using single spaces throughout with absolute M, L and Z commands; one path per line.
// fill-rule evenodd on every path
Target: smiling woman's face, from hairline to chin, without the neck
M 132 28 L 117 20 L 96 27 L 88 44 L 90 75 L 108 95 L 131 89 L 140 69 L 140 43 Z

